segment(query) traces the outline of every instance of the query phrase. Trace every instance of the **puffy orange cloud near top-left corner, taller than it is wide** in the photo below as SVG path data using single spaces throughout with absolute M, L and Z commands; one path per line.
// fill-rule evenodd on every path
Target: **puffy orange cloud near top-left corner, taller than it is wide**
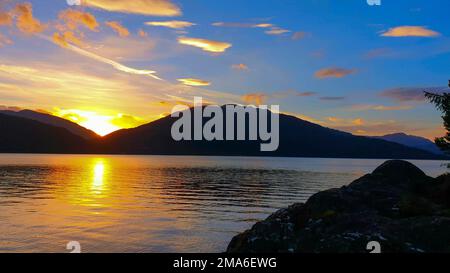
M 16 27 L 23 33 L 36 34 L 44 31 L 45 26 L 33 16 L 33 7 L 29 3 L 17 4 L 13 11 Z

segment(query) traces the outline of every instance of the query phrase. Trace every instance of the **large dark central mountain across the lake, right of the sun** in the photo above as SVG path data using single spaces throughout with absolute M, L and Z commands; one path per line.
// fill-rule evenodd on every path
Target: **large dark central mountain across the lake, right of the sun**
M 325 128 L 288 115 L 280 115 L 280 146 L 275 152 L 260 152 L 260 142 L 257 141 L 176 142 L 171 137 L 171 127 L 175 121 L 176 119 L 169 116 L 137 128 L 116 131 L 98 142 L 97 147 L 100 149 L 98 152 L 382 159 L 443 158 L 386 140 L 354 136 Z

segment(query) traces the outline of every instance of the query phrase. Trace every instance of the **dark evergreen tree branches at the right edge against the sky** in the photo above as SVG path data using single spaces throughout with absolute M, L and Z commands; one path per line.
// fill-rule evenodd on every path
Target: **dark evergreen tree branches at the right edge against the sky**
M 450 81 L 449 81 L 450 87 Z M 450 154 L 450 93 L 435 94 L 425 92 L 425 97 L 436 105 L 436 107 L 444 114 L 444 127 L 447 133 L 443 137 L 436 138 L 436 145 L 445 153 Z

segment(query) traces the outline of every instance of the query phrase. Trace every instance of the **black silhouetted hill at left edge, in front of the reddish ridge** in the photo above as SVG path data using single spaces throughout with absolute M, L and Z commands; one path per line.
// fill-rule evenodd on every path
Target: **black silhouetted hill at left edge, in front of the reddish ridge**
M 87 140 L 60 127 L 0 114 L 2 153 L 82 153 Z

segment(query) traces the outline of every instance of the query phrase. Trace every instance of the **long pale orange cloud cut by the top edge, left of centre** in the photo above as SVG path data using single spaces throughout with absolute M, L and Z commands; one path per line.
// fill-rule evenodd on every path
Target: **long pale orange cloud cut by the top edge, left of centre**
M 170 0 L 83 0 L 83 5 L 113 12 L 152 16 L 179 16 L 180 8 Z

